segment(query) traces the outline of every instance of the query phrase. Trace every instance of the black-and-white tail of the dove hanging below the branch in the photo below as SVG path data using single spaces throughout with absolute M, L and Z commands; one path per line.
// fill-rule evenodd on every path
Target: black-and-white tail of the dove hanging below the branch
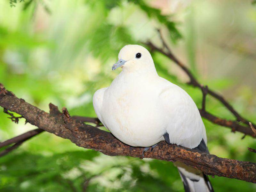
M 182 167 L 177 164 L 176 166 L 178 167 L 185 192 L 214 192 L 208 176 L 203 172 L 187 167 L 185 164 Z

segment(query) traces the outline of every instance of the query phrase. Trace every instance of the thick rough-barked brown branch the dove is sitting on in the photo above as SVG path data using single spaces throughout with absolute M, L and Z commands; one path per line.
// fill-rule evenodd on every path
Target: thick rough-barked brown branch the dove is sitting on
M 142 157 L 144 148 L 131 147 L 117 140 L 111 133 L 97 129 L 72 118 L 67 109 L 62 113 L 50 104 L 50 113 L 18 99 L 12 92 L 0 87 L 0 106 L 16 112 L 30 124 L 59 137 L 69 139 L 79 147 L 100 151 L 109 156 Z M 256 183 L 256 164 L 233 159 L 220 158 L 177 145 L 168 145 L 162 141 L 151 152 L 144 154 L 145 158 L 165 161 L 180 161 L 203 171 L 208 175 L 218 175 L 236 178 Z

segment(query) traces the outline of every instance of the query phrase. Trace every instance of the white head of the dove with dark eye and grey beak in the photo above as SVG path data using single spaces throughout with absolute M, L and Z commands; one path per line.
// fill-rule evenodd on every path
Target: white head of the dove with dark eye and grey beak
M 128 72 L 156 70 L 150 53 L 140 45 L 125 45 L 120 50 L 118 61 L 113 65 L 112 70 L 119 67 Z

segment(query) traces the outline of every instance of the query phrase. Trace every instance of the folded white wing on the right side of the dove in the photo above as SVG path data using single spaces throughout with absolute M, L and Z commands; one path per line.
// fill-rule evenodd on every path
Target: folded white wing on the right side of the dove
M 188 148 L 197 147 L 202 139 L 207 144 L 204 124 L 195 102 L 179 86 L 170 82 L 165 82 L 165 85 L 159 98 L 170 142 Z

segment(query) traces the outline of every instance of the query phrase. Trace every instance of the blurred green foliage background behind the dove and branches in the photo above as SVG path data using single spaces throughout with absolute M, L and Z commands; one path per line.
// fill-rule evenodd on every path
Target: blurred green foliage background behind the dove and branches
M 250 0 L 25 0 L 0 1 L 0 82 L 18 97 L 49 111 L 96 114 L 93 93 L 108 86 L 126 44 L 150 40 L 156 28 L 203 84 L 217 90 L 256 123 L 256 5 Z M 11 6 L 10 6 L 11 5 Z M 152 54 L 159 76 L 185 89 L 201 107 L 200 90 L 172 61 Z M 207 97 L 206 109 L 234 117 Z M 2 109 L 1 109 L 2 110 Z M 35 127 L 0 112 L 0 141 Z M 204 119 L 203 119 L 204 120 Z M 208 147 L 220 157 L 255 162 L 255 139 L 204 120 Z M 103 128 L 104 129 L 104 128 Z M 256 185 L 210 178 L 215 191 L 255 191 Z M 0 158 L 0 191 L 183 191 L 170 162 L 110 157 L 43 132 Z

